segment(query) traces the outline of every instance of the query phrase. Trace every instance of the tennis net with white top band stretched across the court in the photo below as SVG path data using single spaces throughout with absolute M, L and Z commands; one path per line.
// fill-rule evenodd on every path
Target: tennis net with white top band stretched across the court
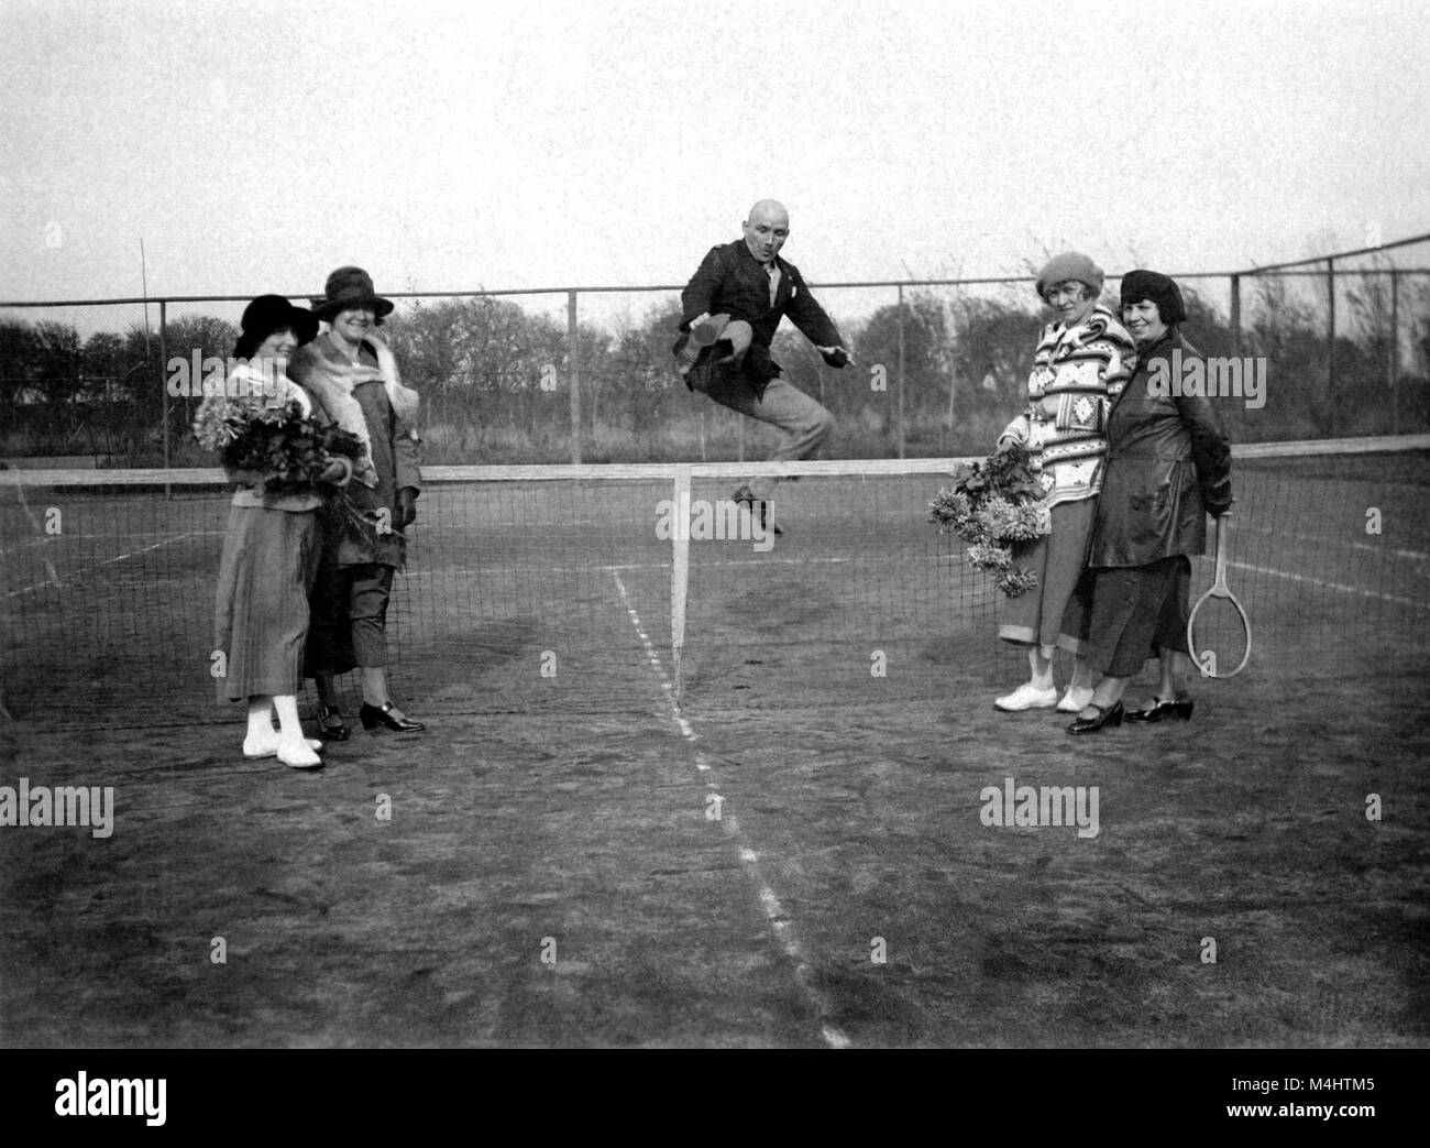
M 1430 637 L 1430 437 L 1236 458 L 1230 584 L 1254 647 L 1228 689 L 1353 677 Z M 981 706 L 1024 666 L 991 580 L 928 521 L 958 462 L 425 468 L 395 696 L 423 717 Z M 778 535 L 731 502 L 761 472 L 798 480 Z M 210 677 L 227 504 L 219 471 L 0 471 L 9 711 L 237 720 Z M 1210 578 L 1198 560 L 1194 594 Z

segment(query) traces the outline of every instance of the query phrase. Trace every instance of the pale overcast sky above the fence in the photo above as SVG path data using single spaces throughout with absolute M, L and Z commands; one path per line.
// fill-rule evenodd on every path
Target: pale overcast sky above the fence
M 812 281 L 1430 230 L 1420 3 L 0 0 L 0 299 Z M 1417 252 L 1420 263 L 1430 255 Z

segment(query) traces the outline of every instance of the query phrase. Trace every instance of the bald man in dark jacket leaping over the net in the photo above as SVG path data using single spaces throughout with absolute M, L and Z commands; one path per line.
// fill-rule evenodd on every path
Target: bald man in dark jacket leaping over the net
M 692 391 L 785 431 L 788 439 L 769 461 L 809 458 L 834 429 L 834 417 L 779 376 L 779 364 L 769 358 L 779 321 L 788 315 L 831 366 L 854 359 L 799 269 L 779 258 L 789 238 L 784 205 L 761 199 L 749 209 L 744 230 L 742 239 L 711 248 L 681 292 L 676 369 Z M 768 522 L 778 481 L 775 475 L 752 478 L 735 490 L 735 501 L 752 510 L 758 505 Z M 769 525 L 775 534 L 784 532 Z

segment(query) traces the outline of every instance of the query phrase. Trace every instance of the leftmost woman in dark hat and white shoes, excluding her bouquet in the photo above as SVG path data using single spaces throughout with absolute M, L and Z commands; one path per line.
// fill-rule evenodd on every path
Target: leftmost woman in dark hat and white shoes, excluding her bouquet
M 312 415 L 310 397 L 287 376 L 285 365 L 317 332 L 313 313 L 279 295 L 262 295 L 243 311 L 242 332 L 227 394 L 204 404 L 237 402 L 257 411 L 296 402 Z M 200 405 L 200 422 L 204 417 Z M 319 766 L 322 759 L 315 750 L 322 743 L 303 737 L 297 687 L 309 628 L 307 595 L 317 574 L 322 497 L 316 488 L 270 490 L 275 475 L 262 471 L 225 470 L 239 490 L 219 561 L 219 700 L 249 704 L 246 757 L 277 757 L 297 769 Z M 342 485 L 350 474 L 346 459 L 332 458 L 319 481 Z

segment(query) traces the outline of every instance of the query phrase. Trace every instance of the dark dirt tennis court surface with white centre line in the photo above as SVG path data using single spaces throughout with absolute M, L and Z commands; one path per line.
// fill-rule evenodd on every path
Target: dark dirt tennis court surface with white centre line
M 0 727 L 0 784 L 113 786 L 116 813 L 106 839 L 0 830 L 0 1039 L 1426 1045 L 1424 573 L 1336 550 L 1358 491 L 1344 521 L 1320 515 L 1321 541 L 1246 515 L 1246 565 L 1317 584 L 1243 571 L 1261 641 L 1243 676 L 1194 683 L 1190 723 L 1087 739 L 992 710 L 1017 658 L 990 641 L 985 600 L 948 588 L 960 560 L 937 531 L 885 507 L 885 534 L 797 532 L 797 500 L 825 497 L 797 491 L 765 555 L 784 564 L 692 558 L 678 710 L 662 554 L 601 550 L 586 504 L 562 543 L 579 557 L 538 555 L 539 571 L 513 574 L 531 540 L 493 525 L 525 511 L 482 508 L 475 563 L 429 543 L 395 608 L 399 680 L 430 729 L 355 731 L 313 774 L 237 759 L 239 726 L 214 724 L 202 681 L 193 710 L 133 703 L 132 723 L 93 694 L 43 717 L 26 694 Z M 1387 521 L 1424 497 L 1374 491 Z M 432 504 L 435 535 L 456 505 Z M 825 521 L 841 514 L 858 517 Z M 1423 553 L 1420 530 L 1397 548 Z M 861 577 L 859 554 L 864 573 L 891 555 L 907 570 Z M 203 555 L 192 565 L 199 585 Z M 470 607 L 419 604 L 463 585 Z M 575 604 L 492 605 L 519 585 Z M 416 626 L 423 610 L 443 636 Z M 76 697 L 92 673 L 122 689 L 76 664 Z M 7 696 L 21 709 L 13 680 Z M 984 824 L 981 794 L 1008 777 L 1095 786 L 1097 835 Z

